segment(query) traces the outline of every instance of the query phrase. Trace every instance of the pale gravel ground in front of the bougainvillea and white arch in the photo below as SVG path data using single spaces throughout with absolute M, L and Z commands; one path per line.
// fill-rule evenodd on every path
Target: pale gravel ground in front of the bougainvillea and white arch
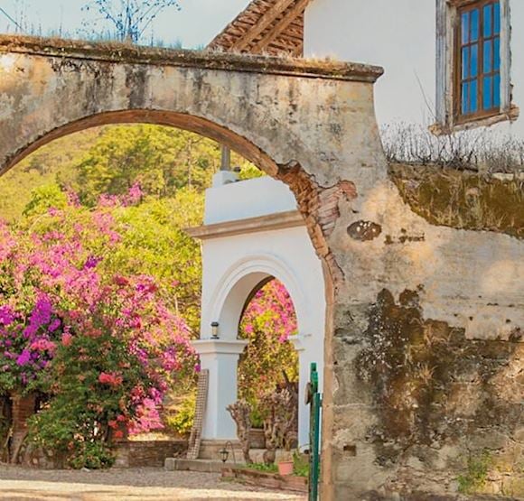
M 164 469 L 34 470 L 0 465 L 0 499 L 14 501 L 304 501 L 306 496 L 223 482 L 218 475 Z

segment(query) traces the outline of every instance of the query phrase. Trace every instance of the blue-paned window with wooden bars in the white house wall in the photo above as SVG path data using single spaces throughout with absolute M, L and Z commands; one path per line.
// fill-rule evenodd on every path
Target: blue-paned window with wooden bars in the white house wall
M 469 3 L 459 8 L 458 14 L 458 116 L 498 113 L 501 107 L 501 2 Z

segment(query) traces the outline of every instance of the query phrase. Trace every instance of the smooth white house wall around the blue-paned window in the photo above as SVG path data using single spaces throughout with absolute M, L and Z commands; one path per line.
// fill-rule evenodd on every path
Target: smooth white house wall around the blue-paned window
M 524 1 L 510 0 L 513 103 L 524 107 Z M 380 125 L 435 122 L 435 0 L 313 0 L 305 13 L 305 57 L 379 64 Z M 493 130 L 524 138 L 524 116 Z

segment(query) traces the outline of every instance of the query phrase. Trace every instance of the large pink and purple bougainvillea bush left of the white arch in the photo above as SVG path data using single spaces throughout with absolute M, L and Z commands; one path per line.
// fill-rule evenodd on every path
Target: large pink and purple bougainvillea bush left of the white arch
M 165 392 L 195 370 L 190 330 L 153 277 L 104 268 L 122 240 L 108 207 L 141 197 L 136 185 L 124 199 L 88 210 L 70 193 L 66 209 L 50 209 L 29 227 L 0 223 L 2 393 L 39 390 L 52 409 L 54 395 L 74 381 L 78 394 L 102 392 L 100 404 L 85 404 L 95 429 L 115 414 L 130 432 L 162 427 Z

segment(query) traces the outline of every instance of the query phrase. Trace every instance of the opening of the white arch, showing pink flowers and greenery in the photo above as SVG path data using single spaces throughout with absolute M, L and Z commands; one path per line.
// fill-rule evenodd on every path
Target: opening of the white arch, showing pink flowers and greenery
M 249 293 L 239 323 L 239 339 L 248 341 L 239 358 L 239 399 L 251 408 L 254 449 L 267 447 L 267 441 L 260 438 L 270 410 L 267 402 L 274 398 L 285 403 L 278 406 L 285 430 L 277 447 L 291 450 L 299 446 L 300 370 L 293 342 L 297 334 L 293 298 L 284 283 L 268 276 Z

